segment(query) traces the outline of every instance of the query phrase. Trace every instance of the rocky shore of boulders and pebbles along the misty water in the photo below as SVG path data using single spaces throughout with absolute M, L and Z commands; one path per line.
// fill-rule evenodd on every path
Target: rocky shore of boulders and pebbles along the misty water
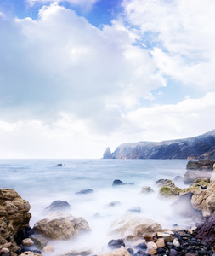
M 173 201 L 171 206 L 176 219 L 180 216 L 192 220 L 187 229 L 181 229 L 177 224 L 165 229 L 161 224 L 135 213 L 139 212 L 135 209 L 110 224 L 109 236 L 113 239 L 106 245 L 106 253 L 98 256 L 215 256 L 214 163 L 208 160 L 189 161 L 184 177 L 156 181 L 158 196 Z M 188 186 L 180 189 L 175 185 L 178 181 L 184 181 Z M 112 185 L 132 184 L 116 180 Z M 155 192 L 150 187 L 143 187 L 140 193 L 148 195 Z M 68 202 L 54 201 L 44 209 L 48 217 L 37 221 L 32 228 L 29 226 L 30 204 L 14 189 L 0 189 L 0 202 L 0 256 L 94 255 L 92 248 L 69 252 L 62 248 L 58 255 L 54 252 L 51 241 L 72 240 L 91 232 L 86 219 L 76 218 L 67 212 L 71 209 Z M 84 247 L 84 241 L 82 244 Z

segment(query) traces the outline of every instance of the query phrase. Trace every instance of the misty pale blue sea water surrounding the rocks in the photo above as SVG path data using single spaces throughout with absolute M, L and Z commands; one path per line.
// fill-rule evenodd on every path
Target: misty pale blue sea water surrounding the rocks
M 188 160 L 0 160 L 0 187 L 15 189 L 31 204 L 31 227 L 37 220 L 46 218 L 44 208 L 55 200 L 68 201 L 71 215 L 88 221 L 92 232 L 73 241 L 50 241 L 55 252 L 81 247 L 93 253 L 103 253 L 107 242 L 117 237 L 108 236 L 111 222 L 129 212 L 141 209 L 139 216 L 151 218 L 162 228 L 173 224 L 184 227 L 189 220 L 173 215 L 173 200 L 158 197 L 156 180 L 184 176 Z M 62 163 L 63 166 L 56 166 Z M 115 179 L 134 183 L 113 187 Z M 176 183 L 180 188 L 183 183 Z M 150 186 L 155 193 L 143 195 L 143 186 Z M 82 189 L 93 189 L 92 194 L 76 195 Z M 110 202 L 119 201 L 115 207 Z

